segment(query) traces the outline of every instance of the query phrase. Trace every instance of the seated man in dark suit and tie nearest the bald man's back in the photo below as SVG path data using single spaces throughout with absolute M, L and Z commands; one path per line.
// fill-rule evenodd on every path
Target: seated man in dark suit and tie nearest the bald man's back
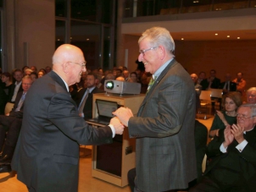
M 22 79 L 23 91 L 19 92 L 16 96 L 14 108 L 8 114 L 0 116 L 0 148 L 3 147 L 5 128 L 7 128 L 8 134 L 3 147 L 3 154 L 0 158 L 0 173 L 10 170 L 10 162 L 14 155 L 14 149 L 19 137 L 19 130 L 21 128 L 22 117 L 23 117 L 23 107 L 25 101 L 25 94 L 30 89 L 32 80 L 30 76 L 25 76 Z

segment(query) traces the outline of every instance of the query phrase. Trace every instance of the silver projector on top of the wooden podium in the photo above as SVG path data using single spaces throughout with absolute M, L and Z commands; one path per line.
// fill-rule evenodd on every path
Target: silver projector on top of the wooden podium
M 105 80 L 104 91 L 118 94 L 140 94 L 142 85 L 119 80 Z

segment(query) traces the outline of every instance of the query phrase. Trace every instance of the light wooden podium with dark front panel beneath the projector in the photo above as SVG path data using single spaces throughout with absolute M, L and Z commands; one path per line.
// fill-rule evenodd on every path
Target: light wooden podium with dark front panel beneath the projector
M 92 118 L 97 118 L 96 99 L 116 101 L 121 107 L 129 107 L 136 115 L 145 94 L 113 95 L 98 93 L 93 95 Z M 103 126 L 92 123 L 92 126 Z M 92 146 L 92 177 L 103 179 L 111 184 L 123 187 L 128 184 L 127 173 L 135 167 L 135 139 L 130 139 L 128 129 L 123 135 L 115 135 L 112 144 Z

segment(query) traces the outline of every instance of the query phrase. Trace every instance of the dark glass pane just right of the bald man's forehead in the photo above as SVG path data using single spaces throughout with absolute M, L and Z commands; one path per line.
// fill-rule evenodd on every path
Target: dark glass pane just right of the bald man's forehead
M 80 47 L 86 58 L 86 68 L 100 67 L 101 25 L 71 20 L 71 44 Z

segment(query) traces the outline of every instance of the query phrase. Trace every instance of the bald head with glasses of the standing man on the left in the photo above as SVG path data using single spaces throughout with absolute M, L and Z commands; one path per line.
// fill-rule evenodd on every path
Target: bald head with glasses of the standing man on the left
M 86 61 L 79 47 L 61 45 L 53 54 L 53 71 L 68 85 L 80 82 L 81 73 L 86 72 Z

